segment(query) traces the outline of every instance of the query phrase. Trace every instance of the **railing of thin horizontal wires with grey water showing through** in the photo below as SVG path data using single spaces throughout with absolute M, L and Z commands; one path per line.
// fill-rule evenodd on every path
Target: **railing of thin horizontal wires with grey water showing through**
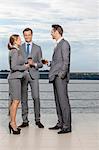
M 53 86 L 48 80 L 39 80 L 41 110 L 54 112 L 55 102 Z M 33 109 L 33 101 L 29 87 L 29 108 Z M 70 80 L 69 98 L 73 112 L 99 112 L 99 80 Z M 7 79 L 0 80 L 0 109 L 8 108 Z

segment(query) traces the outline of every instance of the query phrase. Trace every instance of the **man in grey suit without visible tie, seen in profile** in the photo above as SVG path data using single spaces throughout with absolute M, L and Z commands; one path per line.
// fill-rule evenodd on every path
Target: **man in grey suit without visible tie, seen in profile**
M 70 70 L 70 45 L 64 40 L 63 28 L 52 25 L 52 38 L 56 40 L 49 81 L 53 83 L 58 123 L 50 130 L 61 129 L 58 134 L 71 132 L 71 108 L 68 97 L 68 82 Z

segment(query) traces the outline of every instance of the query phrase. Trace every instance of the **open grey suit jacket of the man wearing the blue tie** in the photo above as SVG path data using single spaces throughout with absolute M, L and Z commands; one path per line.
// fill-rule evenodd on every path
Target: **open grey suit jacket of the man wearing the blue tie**
M 26 45 L 23 43 L 21 45 L 22 56 L 24 57 L 25 62 L 27 62 L 27 55 L 26 55 Z M 32 79 L 39 78 L 39 68 L 43 67 L 42 64 L 42 51 L 41 47 L 32 43 L 31 54 L 28 57 L 32 57 L 33 61 L 37 63 L 36 67 L 29 68 L 29 73 Z

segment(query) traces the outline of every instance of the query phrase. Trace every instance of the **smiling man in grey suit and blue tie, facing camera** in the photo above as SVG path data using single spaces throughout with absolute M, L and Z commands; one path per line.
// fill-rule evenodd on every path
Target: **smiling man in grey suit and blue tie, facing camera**
M 26 28 L 23 31 L 25 43 L 21 46 L 22 55 L 26 63 L 31 66 L 27 71 L 24 80 L 22 81 L 22 119 L 23 123 L 19 127 L 29 126 L 28 121 L 28 83 L 31 87 L 31 95 L 34 100 L 34 115 L 35 124 L 39 128 L 44 128 L 40 122 L 40 98 L 39 98 L 39 68 L 43 67 L 42 64 L 42 51 L 40 46 L 32 42 L 33 31 Z M 30 58 L 30 59 L 29 59 Z

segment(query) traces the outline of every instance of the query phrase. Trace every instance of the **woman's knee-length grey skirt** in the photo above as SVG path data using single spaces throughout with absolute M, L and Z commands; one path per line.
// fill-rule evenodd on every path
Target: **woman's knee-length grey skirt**
M 21 101 L 21 79 L 8 79 L 9 99 Z

